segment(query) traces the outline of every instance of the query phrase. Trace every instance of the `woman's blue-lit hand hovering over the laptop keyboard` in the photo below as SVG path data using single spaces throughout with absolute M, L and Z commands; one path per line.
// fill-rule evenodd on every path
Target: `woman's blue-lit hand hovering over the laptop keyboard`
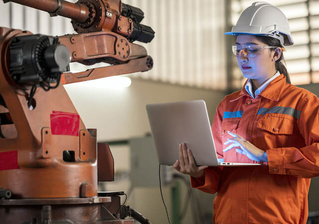
M 224 145 L 230 144 L 223 151 L 227 152 L 228 150 L 234 147 L 236 148 L 236 152 L 246 155 L 249 159 L 255 160 L 257 162 L 268 162 L 267 152 L 257 148 L 255 145 L 244 139 L 242 136 L 238 134 L 234 134 L 230 131 L 227 131 L 233 138 L 227 138 L 228 141 L 224 142 Z

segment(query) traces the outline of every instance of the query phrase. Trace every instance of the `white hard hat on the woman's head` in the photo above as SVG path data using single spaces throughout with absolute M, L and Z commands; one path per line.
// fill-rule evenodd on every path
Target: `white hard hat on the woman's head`
M 276 6 L 265 1 L 252 3 L 241 13 L 231 32 L 224 34 L 270 36 L 279 39 L 282 46 L 294 44 L 285 14 Z

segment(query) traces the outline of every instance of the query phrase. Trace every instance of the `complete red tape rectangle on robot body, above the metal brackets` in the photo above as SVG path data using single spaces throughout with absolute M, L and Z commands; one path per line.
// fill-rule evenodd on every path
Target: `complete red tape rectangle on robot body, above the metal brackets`
M 79 136 L 79 114 L 53 111 L 50 120 L 52 134 Z

